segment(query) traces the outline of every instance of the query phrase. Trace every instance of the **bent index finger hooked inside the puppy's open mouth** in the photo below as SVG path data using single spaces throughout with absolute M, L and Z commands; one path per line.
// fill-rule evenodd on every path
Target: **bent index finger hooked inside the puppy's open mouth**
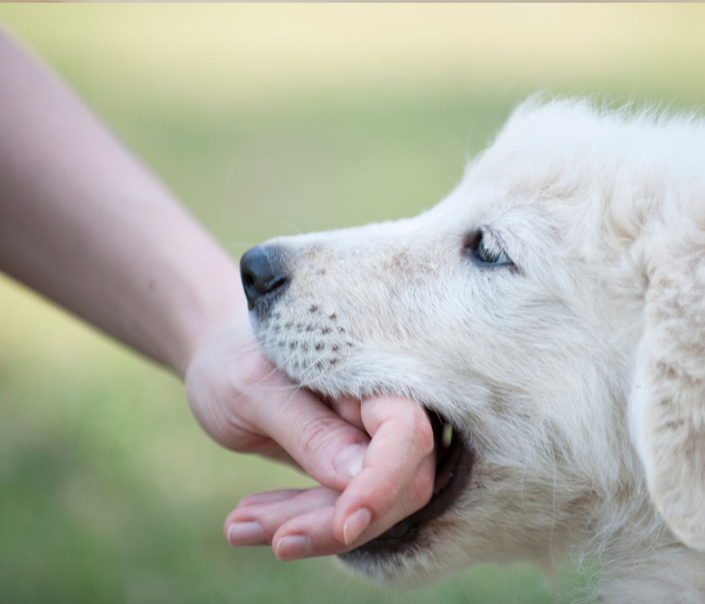
M 424 409 L 410 400 L 374 398 L 362 402 L 362 421 L 372 442 L 333 518 L 333 534 L 344 544 L 357 541 L 397 503 L 411 514 L 433 493 L 434 433 Z

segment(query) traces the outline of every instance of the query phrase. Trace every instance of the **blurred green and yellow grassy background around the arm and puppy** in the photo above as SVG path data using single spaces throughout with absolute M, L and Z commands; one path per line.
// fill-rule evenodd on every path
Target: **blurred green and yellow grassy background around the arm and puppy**
M 431 206 L 537 90 L 701 106 L 704 8 L 0 5 L 0 23 L 238 257 Z M 239 498 L 306 484 L 219 449 L 173 377 L 0 277 L 2 603 L 555 601 L 529 565 L 397 593 L 227 546 Z

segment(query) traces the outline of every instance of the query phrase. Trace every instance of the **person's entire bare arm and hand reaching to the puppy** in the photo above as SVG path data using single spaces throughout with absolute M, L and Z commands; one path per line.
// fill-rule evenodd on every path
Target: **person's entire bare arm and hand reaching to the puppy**
M 280 560 L 341 553 L 431 497 L 419 405 L 326 405 L 254 343 L 231 257 L 47 70 L 0 32 L 0 270 L 185 380 L 217 443 L 322 486 L 240 502 L 233 546 Z

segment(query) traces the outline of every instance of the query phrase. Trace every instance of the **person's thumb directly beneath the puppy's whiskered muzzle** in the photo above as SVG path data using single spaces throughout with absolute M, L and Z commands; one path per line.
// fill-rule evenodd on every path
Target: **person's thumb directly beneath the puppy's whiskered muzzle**
M 313 479 L 343 491 L 362 469 L 369 436 L 309 391 L 292 390 L 279 371 L 260 371 L 259 378 L 252 369 L 243 371 L 250 380 L 243 393 L 257 402 L 243 405 L 250 414 L 248 421 L 281 445 Z

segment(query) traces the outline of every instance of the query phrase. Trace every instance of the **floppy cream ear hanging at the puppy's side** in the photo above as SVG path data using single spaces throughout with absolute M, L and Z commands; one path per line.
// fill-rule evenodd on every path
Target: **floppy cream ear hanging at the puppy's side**
M 648 271 L 630 427 L 658 512 L 705 552 L 705 250 L 677 247 Z

